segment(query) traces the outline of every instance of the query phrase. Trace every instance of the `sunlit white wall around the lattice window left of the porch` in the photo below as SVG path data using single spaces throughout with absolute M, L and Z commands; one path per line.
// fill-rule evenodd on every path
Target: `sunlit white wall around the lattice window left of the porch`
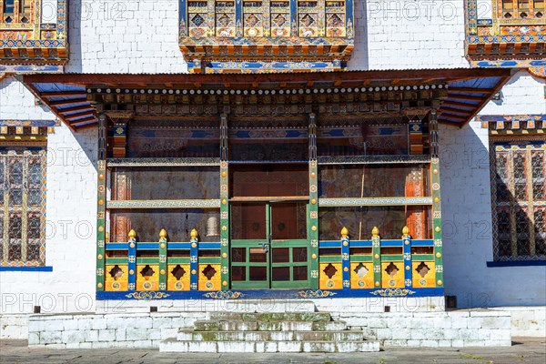
M 54 119 L 13 77 L 0 83 L 0 119 Z M 58 126 L 47 137 L 45 266 L 0 271 L 0 314 L 95 308 L 96 128 Z

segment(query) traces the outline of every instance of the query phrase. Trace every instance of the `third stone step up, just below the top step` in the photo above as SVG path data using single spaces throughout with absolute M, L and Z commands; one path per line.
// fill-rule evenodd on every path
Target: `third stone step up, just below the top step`
M 345 321 L 212 321 L 197 320 L 196 331 L 339 331 L 347 329 Z

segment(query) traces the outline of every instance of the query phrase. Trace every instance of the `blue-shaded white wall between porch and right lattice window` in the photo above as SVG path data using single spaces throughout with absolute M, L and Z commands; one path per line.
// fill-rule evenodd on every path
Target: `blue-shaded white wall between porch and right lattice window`
M 493 260 L 488 129 L 470 122 L 439 132 L 446 294 L 460 308 L 545 305 L 546 267 L 486 265 Z

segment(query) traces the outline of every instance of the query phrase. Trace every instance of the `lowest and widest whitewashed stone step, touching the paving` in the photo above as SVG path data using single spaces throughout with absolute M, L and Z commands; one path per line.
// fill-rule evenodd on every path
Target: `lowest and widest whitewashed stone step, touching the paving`
M 260 353 L 260 352 L 364 352 L 379 351 L 379 341 L 178 341 L 159 343 L 161 352 Z

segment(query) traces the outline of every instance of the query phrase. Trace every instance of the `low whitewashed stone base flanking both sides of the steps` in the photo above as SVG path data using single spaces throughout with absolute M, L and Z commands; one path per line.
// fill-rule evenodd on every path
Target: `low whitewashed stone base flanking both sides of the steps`
M 511 316 L 502 311 L 351 314 L 333 312 L 334 319 L 363 329 L 367 339 L 384 346 L 468 347 L 510 346 Z M 49 349 L 157 348 L 175 338 L 178 329 L 192 328 L 202 312 L 31 316 L 30 347 Z

